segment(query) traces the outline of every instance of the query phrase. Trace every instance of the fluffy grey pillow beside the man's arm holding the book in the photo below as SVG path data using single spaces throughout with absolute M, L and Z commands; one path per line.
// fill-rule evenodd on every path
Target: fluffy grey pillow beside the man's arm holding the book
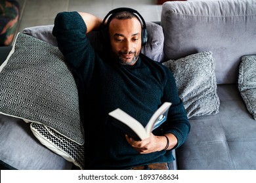
M 173 72 L 188 118 L 217 114 L 219 97 L 215 78 L 215 59 L 211 52 L 200 52 L 164 62 Z

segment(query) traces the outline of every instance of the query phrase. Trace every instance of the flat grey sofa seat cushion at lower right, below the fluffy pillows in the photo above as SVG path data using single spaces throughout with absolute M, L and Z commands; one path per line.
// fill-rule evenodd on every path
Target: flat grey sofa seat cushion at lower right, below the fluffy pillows
M 190 118 L 190 133 L 177 149 L 179 169 L 256 169 L 256 125 L 237 84 L 217 86 L 219 114 Z

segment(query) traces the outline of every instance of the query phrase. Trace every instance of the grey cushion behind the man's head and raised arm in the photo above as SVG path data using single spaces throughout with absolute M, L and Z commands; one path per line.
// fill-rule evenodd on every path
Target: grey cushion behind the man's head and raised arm
M 52 34 L 53 26 L 54 25 L 42 25 L 27 27 L 22 31 L 22 33 L 31 35 L 41 39 L 42 41 L 46 41 L 53 44 L 54 46 L 57 46 L 58 43 L 56 38 Z M 142 46 L 141 52 L 142 54 L 148 56 L 148 58 L 161 62 L 163 61 L 163 29 L 160 25 L 152 22 L 146 22 L 146 27 L 148 31 L 148 42 L 146 45 Z M 100 31 L 92 31 L 87 34 L 87 37 L 89 38 L 95 50 L 98 52 L 103 50 Z

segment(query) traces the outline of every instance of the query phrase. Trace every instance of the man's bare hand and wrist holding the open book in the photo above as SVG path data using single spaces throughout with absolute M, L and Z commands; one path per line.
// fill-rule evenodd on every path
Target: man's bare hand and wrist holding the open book
M 177 138 L 171 134 L 165 134 L 169 139 L 169 147 L 167 150 L 171 150 L 177 144 Z M 167 144 L 167 139 L 164 136 L 155 136 L 153 133 L 150 134 L 150 137 L 142 141 L 135 141 L 133 138 L 125 135 L 127 142 L 135 148 L 140 154 L 148 154 L 151 152 L 161 151 L 165 148 Z

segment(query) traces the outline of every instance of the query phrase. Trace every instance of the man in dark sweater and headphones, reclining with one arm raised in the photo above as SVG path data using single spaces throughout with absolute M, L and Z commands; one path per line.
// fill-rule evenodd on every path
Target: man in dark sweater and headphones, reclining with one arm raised
M 55 18 L 53 35 L 79 92 L 86 169 L 168 169 L 171 150 L 186 140 L 190 124 L 171 71 L 140 54 L 144 26 L 129 8 L 114 10 L 106 24 L 85 12 Z M 104 53 L 86 35 L 100 27 Z M 108 113 L 121 108 L 145 126 L 165 101 L 172 103 L 167 121 L 148 139 L 135 141 L 110 123 Z

